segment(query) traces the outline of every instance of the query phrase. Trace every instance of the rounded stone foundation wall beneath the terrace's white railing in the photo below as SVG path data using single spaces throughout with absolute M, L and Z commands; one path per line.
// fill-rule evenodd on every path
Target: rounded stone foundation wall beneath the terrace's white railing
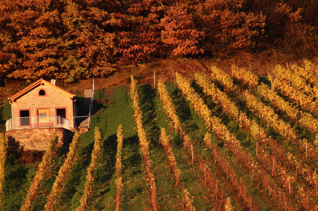
M 24 150 L 46 150 L 51 136 L 56 133 L 58 144 L 66 145 L 73 139 L 74 133 L 64 128 L 27 128 L 7 131 L 4 133 L 8 147 L 23 146 Z

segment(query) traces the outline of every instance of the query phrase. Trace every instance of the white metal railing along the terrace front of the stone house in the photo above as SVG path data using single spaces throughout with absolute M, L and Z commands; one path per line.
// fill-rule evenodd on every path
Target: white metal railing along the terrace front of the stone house
M 5 123 L 6 131 L 23 128 L 65 128 L 70 130 L 70 122 L 61 116 L 11 118 Z

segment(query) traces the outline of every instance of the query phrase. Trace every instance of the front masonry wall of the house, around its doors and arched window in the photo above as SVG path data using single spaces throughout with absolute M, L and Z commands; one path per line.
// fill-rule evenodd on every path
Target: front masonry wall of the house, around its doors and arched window
M 47 96 L 38 96 L 38 90 L 44 88 Z M 38 109 L 49 109 L 50 116 L 56 116 L 56 108 L 67 108 L 66 119 L 73 128 L 73 99 L 47 85 L 39 85 L 12 102 L 12 118 L 19 117 L 19 110 L 30 109 L 30 116 L 38 116 Z

